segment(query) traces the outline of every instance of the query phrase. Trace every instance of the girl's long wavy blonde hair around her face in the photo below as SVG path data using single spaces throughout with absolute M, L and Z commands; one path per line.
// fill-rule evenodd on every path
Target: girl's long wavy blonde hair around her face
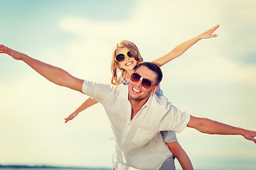
M 129 50 L 129 52 L 132 53 L 134 60 L 137 61 L 137 65 L 140 62 L 143 62 L 143 58 L 139 53 L 139 49 L 133 42 L 130 42 L 128 40 L 122 40 L 121 42 L 117 43 L 117 45 L 114 47 L 114 52 L 113 52 L 112 62 L 111 62 L 111 72 L 112 72 L 111 83 L 114 85 L 121 83 L 121 79 L 117 76 L 117 71 L 120 70 L 122 72 L 125 72 L 125 70 L 120 68 L 118 66 L 118 63 L 114 60 L 114 57 L 117 55 L 117 49 L 122 48 L 122 47 L 126 47 Z M 137 67 L 137 65 L 136 65 L 136 67 Z

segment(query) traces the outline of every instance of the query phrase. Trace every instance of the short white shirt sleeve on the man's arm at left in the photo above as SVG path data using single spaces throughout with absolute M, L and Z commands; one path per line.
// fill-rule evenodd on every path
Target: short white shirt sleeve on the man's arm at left
M 100 103 L 103 103 L 110 96 L 112 89 L 113 86 L 110 84 L 98 84 L 93 81 L 85 80 L 82 84 L 82 93 L 94 98 Z

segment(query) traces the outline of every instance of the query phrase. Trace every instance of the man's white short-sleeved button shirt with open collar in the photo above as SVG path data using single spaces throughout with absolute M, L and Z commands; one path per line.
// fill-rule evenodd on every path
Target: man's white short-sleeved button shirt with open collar
M 131 120 L 132 106 L 128 100 L 128 86 L 97 84 L 84 81 L 82 92 L 102 103 L 110 120 L 116 142 L 114 169 L 159 169 L 171 156 L 160 131 L 181 132 L 190 119 L 164 96 L 149 97 Z

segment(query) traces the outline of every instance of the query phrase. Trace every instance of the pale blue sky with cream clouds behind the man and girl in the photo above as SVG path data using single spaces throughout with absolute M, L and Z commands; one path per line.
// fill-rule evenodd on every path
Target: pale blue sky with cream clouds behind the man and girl
M 162 67 L 164 94 L 198 117 L 256 130 L 255 1 L 1 1 L 0 43 L 75 77 L 110 82 L 112 49 L 131 40 L 146 61 L 220 24 Z M 0 56 L 0 164 L 112 166 L 113 140 L 98 104 L 65 124 L 87 96 Z M 253 169 L 239 136 L 177 134 L 197 169 Z M 178 166 L 178 162 L 176 163 Z

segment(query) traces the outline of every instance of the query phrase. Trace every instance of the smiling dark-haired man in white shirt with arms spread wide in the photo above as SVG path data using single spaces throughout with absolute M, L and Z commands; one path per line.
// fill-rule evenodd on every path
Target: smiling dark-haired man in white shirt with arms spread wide
M 116 141 L 115 169 L 161 168 L 171 155 L 159 134 L 162 130 L 181 132 L 188 126 L 208 134 L 242 135 L 256 143 L 255 131 L 193 117 L 172 106 L 164 96 L 154 95 L 162 79 L 161 69 L 155 64 L 140 64 L 128 86 L 112 86 L 75 78 L 63 69 L 4 45 L 0 45 L 0 52 L 22 60 L 55 84 L 80 91 L 102 103 Z

